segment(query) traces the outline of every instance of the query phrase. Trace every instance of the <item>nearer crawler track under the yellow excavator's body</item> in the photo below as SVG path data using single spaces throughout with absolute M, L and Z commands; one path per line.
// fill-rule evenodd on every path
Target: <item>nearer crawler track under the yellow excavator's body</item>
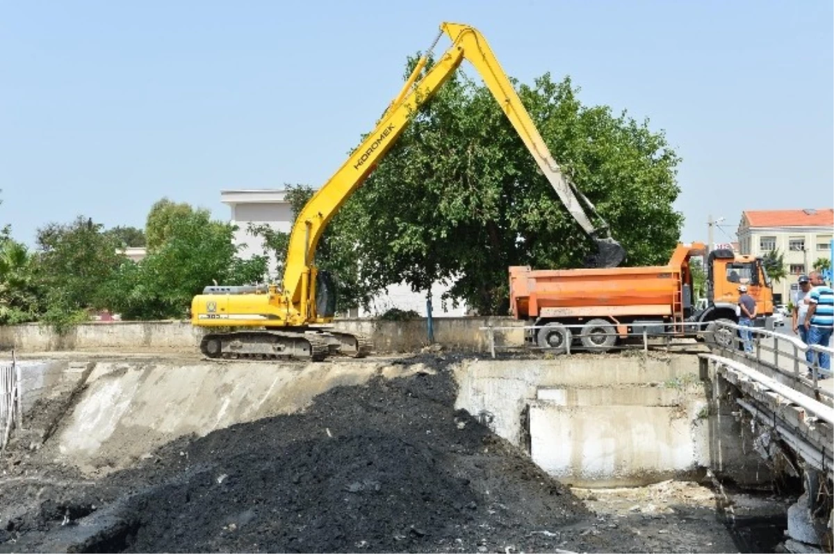
M 329 355 L 329 341 L 316 333 L 293 331 L 236 331 L 208 333 L 200 352 L 211 360 L 322 361 Z

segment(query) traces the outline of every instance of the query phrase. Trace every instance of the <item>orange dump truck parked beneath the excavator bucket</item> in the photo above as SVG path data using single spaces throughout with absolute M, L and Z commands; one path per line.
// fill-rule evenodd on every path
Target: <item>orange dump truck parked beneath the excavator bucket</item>
M 714 321 L 737 322 L 739 287 L 756 299 L 757 326 L 773 314 L 771 280 L 761 258 L 713 250 L 706 258 L 706 303 L 696 308 L 691 259 L 703 244 L 678 244 L 669 263 L 610 269 L 530 269 L 510 267 L 510 311 L 540 327 L 525 341 L 556 351 L 579 343 L 609 350 L 628 335 L 701 337 L 727 345 L 731 331 Z M 691 325 L 701 323 L 702 325 Z M 577 325 L 579 325 L 577 327 Z M 705 332 L 706 331 L 706 332 Z

